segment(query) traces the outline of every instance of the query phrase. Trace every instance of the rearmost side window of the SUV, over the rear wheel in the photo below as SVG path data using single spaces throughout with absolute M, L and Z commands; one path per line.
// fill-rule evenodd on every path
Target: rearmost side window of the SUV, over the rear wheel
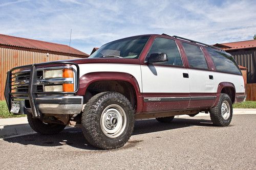
M 232 56 L 225 52 L 214 50 L 207 47 L 207 51 L 210 54 L 217 71 L 227 72 L 231 74 L 241 75 L 241 71 Z

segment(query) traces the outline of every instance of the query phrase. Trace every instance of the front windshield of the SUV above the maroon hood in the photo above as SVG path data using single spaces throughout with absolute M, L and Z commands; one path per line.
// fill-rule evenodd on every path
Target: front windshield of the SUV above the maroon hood
M 137 36 L 102 45 L 89 58 L 119 57 L 137 59 L 150 36 Z

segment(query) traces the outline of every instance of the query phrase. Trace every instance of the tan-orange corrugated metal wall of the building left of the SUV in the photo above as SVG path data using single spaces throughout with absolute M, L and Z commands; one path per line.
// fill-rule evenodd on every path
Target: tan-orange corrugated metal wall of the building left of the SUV
M 9 69 L 20 65 L 79 58 L 50 53 L 47 57 L 47 53 L 15 50 L 3 47 L 0 47 L 0 57 L 0 100 L 5 100 L 4 91 L 6 82 L 6 72 Z

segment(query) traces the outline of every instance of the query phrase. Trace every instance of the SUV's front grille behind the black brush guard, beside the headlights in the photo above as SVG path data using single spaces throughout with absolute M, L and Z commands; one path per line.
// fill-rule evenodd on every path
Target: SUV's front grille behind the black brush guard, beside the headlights
M 42 79 L 43 71 L 37 70 L 37 80 Z M 28 93 L 30 70 L 20 70 L 12 74 L 11 91 L 18 93 Z M 37 92 L 44 91 L 43 85 L 37 85 Z

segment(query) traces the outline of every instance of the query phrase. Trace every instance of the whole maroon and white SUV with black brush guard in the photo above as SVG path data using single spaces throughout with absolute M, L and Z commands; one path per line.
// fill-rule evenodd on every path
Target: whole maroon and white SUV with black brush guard
M 165 34 L 116 40 L 88 59 L 19 66 L 7 74 L 10 112 L 27 114 L 41 134 L 81 124 L 85 138 L 101 149 L 122 147 L 135 119 L 167 123 L 175 115 L 205 112 L 213 125 L 227 126 L 232 104 L 245 99 L 230 54 Z

